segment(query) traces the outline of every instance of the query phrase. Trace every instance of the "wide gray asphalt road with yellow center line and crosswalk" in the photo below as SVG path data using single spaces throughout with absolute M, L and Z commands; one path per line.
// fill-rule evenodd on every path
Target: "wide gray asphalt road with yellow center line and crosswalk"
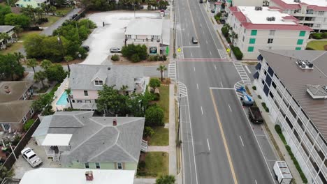
M 180 98 L 184 183 L 274 183 L 275 154 L 262 125 L 249 123 L 240 105 L 233 62 L 205 61 L 223 57 L 205 8 L 197 0 L 179 0 L 175 12 L 184 59 L 203 60 L 177 61 L 177 80 L 187 88 Z

